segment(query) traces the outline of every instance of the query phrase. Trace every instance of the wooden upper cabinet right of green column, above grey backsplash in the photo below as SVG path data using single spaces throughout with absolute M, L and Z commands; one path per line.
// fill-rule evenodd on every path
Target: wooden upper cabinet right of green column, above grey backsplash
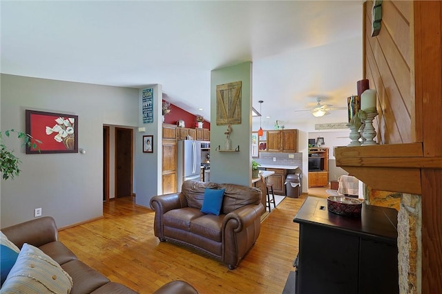
M 267 152 L 298 152 L 298 129 L 267 131 Z

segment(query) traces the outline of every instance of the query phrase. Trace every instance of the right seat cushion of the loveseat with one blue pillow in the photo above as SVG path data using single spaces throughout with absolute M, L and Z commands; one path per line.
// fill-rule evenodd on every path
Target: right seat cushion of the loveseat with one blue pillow
M 191 232 L 211 240 L 221 242 L 221 227 L 224 214 L 215 216 L 206 214 L 191 221 Z

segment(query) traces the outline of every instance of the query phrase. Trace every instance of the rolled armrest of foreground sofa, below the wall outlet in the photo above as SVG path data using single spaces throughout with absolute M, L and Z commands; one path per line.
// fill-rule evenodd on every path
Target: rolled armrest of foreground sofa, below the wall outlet
M 20 224 L 1 229 L 1 231 L 20 249 L 23 243 L 39 247 L 58 240 L 57 225 L 50 216 L 21 222 Z

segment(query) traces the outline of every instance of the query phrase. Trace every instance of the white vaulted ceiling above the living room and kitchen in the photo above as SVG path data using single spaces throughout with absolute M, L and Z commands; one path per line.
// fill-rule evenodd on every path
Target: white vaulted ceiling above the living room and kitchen
M 362 78 L 363 1 L 1 1 L 1 72 L 122 87 L 210 120 L 210 72 L 253 62 L 253 107 L 291 125 Z M 202 108 L 203 110 L 198 110 Z M 255 122 L 255 120 L 254 120 Z

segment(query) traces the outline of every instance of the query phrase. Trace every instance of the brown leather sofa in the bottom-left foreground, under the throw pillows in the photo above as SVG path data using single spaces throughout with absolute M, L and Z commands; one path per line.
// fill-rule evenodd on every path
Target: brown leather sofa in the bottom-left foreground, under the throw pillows
M 28 243 L 55 260 L 72 278 L 73 286 L 70 294 L 136 293 L 122 284 L 111 282 L 107 277 L 78 260 L 72 251 L 58 241 L 57 226 L 55 220 L 50 216 L 15 224 L 1 229 L 1 232 L 19 249 L 24 243 Z M 30 264 L 30 267 L 34 266 Z M 165 284 L 155 293 L 195 294 L 198 292 L 186 282 L 173 281 Z

